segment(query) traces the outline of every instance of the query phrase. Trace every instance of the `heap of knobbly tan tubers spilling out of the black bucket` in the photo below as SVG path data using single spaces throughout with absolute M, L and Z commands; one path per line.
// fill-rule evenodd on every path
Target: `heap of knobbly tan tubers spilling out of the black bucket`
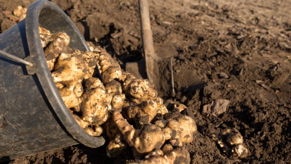
M 63 102 L 89 135 L 107 135 L 107 156 L 131 149 L 132 163 L 190 163 L 182 146 L 197 126 L 182 107 L 168 111 L 153 83 L 123 71 L 106 52 L 72 50 L 65 32 L 39 27 L 39 34 Z

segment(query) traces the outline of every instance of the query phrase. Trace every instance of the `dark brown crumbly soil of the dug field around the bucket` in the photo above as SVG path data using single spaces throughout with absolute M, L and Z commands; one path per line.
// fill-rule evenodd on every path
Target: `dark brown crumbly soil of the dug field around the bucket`
M 33 0 L 0 0 L 0 10 L 28 7 Z M 142 59 L 136 0 L 52 0 L 75 22 L 85 39 L 101 45 L 122 68 Z M 283 0 L 150 1 L 154 47 L 159 57 L 173 57 L 176 96 L 162 83 L 168 104 L 188 106 L 198 133 L 186 148 L 191 163 L 291 162 L 291 3 Z M 16 22 L 0 13 L 1 32 Z M 168 59 L 167 59 L 168 60 Z M 168 61 L 160 64 L 162 81 L 170 80 Z M 218 73 L 225 73 L 228 78 Z M 202 107 L 230 100 L 215 117 Z M 250 150 L 246 158 L 227 156 L 208 137 L 236 128 Z M 104 146 L 82 145 L 19 158 L 11 163 L 125 163 L 108 158 Z

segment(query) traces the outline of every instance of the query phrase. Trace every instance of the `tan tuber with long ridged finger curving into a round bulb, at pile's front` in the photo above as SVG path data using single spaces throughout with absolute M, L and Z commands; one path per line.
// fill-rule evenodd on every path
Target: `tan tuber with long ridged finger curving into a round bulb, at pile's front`
M 165 142 L 164 133 L 156 125 L 144 124 L 140 130 L 136 130 L 118 111 L 113 112 L 113 120 L 127 144 L 138 153 L 149 153 L 154 149 L 160 149 Z

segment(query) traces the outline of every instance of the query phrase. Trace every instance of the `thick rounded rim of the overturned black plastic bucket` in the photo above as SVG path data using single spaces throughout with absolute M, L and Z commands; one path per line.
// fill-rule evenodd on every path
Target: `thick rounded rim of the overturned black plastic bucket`
M 51 104 L 58 119 L 61 121 L 70 135 L 72 135 L 73 139 L 88 147 L 100 147 L 105 143 L 104 137 L 93 137 L 79 126 L 63 102 L 62 97 L 59 94 L 58 89 L 56 88 L 56 85 L 52 79 L 51 72 L 47 67 L 45 54 L 40 42 L 40 34 L 38 32 L 39 15 L 40 12 L 45 8 L 49 8 L 50 10 L 58 12 L 58 14 L 60 14 L 61 17 L 63 17 L 68 22 L 68 25 L 74 29 L 76 35 L 80 37 L 82 41 L 81 44 L 84 46 L 84 48 L 90 51 L 84 37 L 81 35 L 72 20 L 70 20 L 65 12 L 61 10 L 61 8 L 50 1 L 38 0 L 29 6 L 26 13 L 25 29 L 29 48 L 29 57 L 27 57 L 26 60 L 33 63 L 32 70 L 40 81 L 42 89 L 44 90 L 49 103 Z

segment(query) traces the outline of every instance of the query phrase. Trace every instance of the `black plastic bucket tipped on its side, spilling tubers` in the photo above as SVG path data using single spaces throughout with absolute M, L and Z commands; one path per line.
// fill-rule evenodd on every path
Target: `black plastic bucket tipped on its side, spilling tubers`
M 70 18 L 47 0 L 32 3 L 25 20 L 0 34 L 0 50 L 26 60 L 25 66 L 0 56 L 0 162 L 74 144 L 99 147 L 65 106 L 47 67 L 38 26 L 66 32 L 70 48 L 89 50 Z

